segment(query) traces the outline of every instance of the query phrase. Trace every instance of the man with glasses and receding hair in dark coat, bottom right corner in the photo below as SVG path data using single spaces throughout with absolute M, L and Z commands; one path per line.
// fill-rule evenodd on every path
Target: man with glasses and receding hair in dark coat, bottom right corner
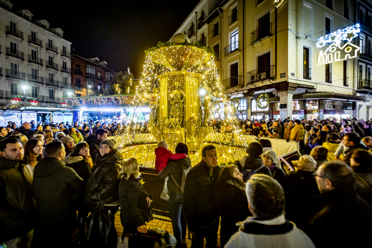
M 356 193 L 352 168 L 340 161 L 325 162 L 318 168 L 315 179 L 324 206 L 308 227 L 315 247 L 369 244 L 372 206 Z

